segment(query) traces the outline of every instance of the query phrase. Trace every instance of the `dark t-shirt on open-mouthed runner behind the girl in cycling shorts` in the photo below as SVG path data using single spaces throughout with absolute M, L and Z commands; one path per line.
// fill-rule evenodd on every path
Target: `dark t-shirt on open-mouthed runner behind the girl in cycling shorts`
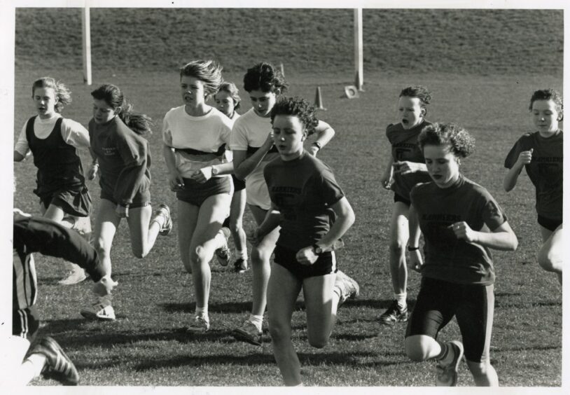
M 424 120 L 419 125 L 411 129 L 404 129 L 401 123 L 390 124 L 386 128 L 386 137 L 392 146 L 392 158 L 394 162 L 415 162 L 425 163 L 424 153 L 417 144 L 417 137 L 424 127 L 431 125 Z M 429 182 L 431 178 L 426 172 L 415 172 L 410 174 L 394 174 L 394 183 L 391 189 L 406 200 L 410 200 L 410 190 L 417 184 Z

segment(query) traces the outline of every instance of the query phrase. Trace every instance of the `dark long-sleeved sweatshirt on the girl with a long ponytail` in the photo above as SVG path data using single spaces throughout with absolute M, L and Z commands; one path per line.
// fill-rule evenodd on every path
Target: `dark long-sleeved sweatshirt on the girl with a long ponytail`
M 104 124 L 89 122 L 91 150 L 99 162 L 99 186 L 120 205 L 130 205 L 151 188 L 148 141 L 118 116 Z

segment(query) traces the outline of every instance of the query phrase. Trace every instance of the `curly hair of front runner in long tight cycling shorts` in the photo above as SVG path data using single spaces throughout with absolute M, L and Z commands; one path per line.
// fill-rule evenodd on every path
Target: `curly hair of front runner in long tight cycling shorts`
M 433 123 L 424 127 L 417 137 L 417 144 L 422 151 L 428 145 L 449 145 L 457 158 L 467 158 L 475 151 L 475 138 L 457 123 Z

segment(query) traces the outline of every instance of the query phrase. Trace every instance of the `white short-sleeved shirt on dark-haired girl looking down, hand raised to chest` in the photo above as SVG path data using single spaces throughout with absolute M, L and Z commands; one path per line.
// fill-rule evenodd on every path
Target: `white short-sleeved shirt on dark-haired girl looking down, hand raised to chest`
M 247 151 L 251 154 L 256 148 L 263 146 L 271 131 L 271 118 L 260 117 L 253 109 L 249 109 L 235 120 L 230 147 L 232 150 Z M 267 153 L 257 167 L 253 169 L 253 172 L 246 176 L 246 201 L 249 205 L 258 206 L 265 210 L 270 208 L 271 201 L 267 192 L 267 184 L 263 178 L 263 168 L 270 160 L 278 156 L 277 151 Z

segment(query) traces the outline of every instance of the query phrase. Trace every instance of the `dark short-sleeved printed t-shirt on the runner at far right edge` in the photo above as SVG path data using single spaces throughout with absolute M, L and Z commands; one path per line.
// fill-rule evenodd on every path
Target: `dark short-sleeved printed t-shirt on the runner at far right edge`
M 562 130 L 552 137 L 542 137 L 539 132 L 525 133 L 518 139 L 505 159 L 505 167 L 515 165 L 522 151 L 532 148 L 532 160 L 527 169 L 536 190 L 536 212 L 548 219 L 562 221 L 562 169 L 564 144 Z

